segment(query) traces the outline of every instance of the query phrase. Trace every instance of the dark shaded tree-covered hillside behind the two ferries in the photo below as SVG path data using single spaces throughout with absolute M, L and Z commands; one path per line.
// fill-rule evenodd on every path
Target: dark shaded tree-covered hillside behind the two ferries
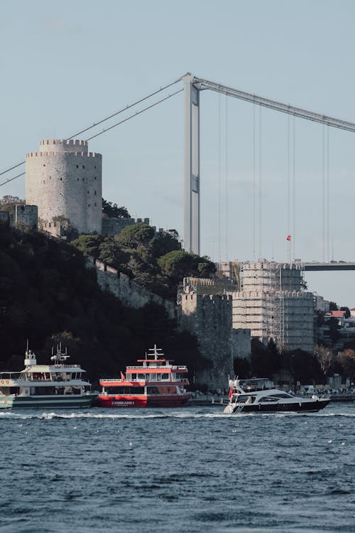
M 101 291 L 79 249 L 2 224 L 0 338 L 1 370 L 23 368 L 27 339 L 38 362 L 48 362 L 52 346 L 61 341 L 71 362 L 82 364 L 93 382 L 117 375 L 155 343 L 191 372 L 204 364 L 195 338 L 179 333 L 163 308 L 127 308 Z

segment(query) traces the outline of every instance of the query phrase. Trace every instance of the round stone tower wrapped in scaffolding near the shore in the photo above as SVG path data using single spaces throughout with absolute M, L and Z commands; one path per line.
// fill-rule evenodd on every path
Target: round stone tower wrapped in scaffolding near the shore
M 233 328 L 249 328 L 251 337 L 263 342 L 272 338 L 279 349 L 312 352 L 314 296 L 301 286 L 299 264 L 241 264 L 241 291 L 233 294 Z

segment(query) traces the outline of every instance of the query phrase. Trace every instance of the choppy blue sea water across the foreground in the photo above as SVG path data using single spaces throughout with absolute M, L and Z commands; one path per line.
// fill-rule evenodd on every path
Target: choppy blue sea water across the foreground
M 0 412 L 0 532 L 355 532 L 355 403 Z

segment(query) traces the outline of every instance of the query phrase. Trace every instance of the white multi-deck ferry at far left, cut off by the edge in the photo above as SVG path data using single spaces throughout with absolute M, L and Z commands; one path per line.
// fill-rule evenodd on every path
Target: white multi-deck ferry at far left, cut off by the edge
M 85 370 L 69 365 L 67 350 L 58 345 L 50 365 L 37 365 L 35 354 L 26 350 L 21 372 L 0 372 L 0 409 L 90 407 L 98 396 L 82 379 Z

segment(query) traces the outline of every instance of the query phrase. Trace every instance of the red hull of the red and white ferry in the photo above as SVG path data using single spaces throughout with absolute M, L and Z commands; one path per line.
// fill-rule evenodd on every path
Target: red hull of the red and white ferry
M 157 394 L 157 395 L 109 395 L 99 394 L 97 404 L 99 407 L 181 407 L 190 394 Z

